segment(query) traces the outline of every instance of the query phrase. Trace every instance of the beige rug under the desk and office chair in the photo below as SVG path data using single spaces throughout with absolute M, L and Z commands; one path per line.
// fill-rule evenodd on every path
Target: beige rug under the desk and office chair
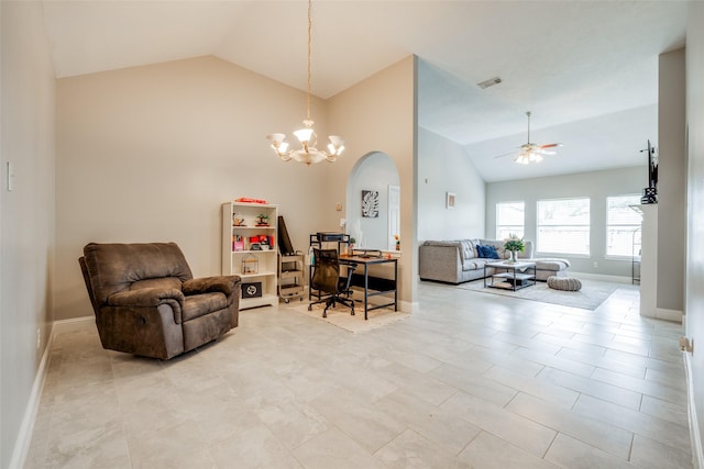
M 352 333 L 373 331 L 377 327 L 382 327 L 410 316 L 408 313 L 394 311 L 391 308 L 380 308 L 378 310 L 369 311 L 369 320 L 364 321 L 364 303 L 361 302 L 355 304 L 354 315 L 350 314 L 349 308 L 341 305 L 337 305 L 334 309 L 328 309 L 328 317 L 322 317 L 324 304 L 314 304 L 312 311 L 308 311 L 308 303 L 297 304 L 289 309 L 309 317 L 324 321 Z

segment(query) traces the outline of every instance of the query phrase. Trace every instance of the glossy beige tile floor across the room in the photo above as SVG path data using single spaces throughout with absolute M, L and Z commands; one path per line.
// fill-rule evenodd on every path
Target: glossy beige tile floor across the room
M 351 334 L 288 310 L 170 361 L 55 335 L 28 468 L 692 468 L 681 325 L 424 282 Z M 360 320 L 362 320 L 360 317 Z

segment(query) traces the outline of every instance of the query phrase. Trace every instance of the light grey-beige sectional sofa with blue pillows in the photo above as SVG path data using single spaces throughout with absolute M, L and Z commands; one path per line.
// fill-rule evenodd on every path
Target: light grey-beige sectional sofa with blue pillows
M 457 284 L 484 278 L 484 265 L 496 259 L 479 257 L 477 245 L 494 246 L 502 259 L 510 257 L 510 253 L 504 249 L 504 242 L 501 239 L 426 241 L 419 247 L 420 279 Z M 518 258 L 536 263 L 537 280 L 547 281 L 552 276 L 566 277 L 569 260 L 534 258 L 532 243 L 528 241 L 525 245 L 526 248 L 522 253 L 518 253 Z M 486 275 L 492 273 L 493 269 L 486 269 Z

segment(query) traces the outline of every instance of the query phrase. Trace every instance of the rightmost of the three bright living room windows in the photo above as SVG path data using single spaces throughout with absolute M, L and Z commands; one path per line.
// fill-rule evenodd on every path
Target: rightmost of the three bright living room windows
M 640 214 L 630 205 L 638 205 L 640 196 L 606 198 L 606 255 L 630 257 L 634 244 L 640 244 Z

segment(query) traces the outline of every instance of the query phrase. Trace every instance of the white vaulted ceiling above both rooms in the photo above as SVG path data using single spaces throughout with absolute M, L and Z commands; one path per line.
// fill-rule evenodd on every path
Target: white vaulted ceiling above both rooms
M 306 1 L 43 7 L 58 78 L 216 55 L 306 89 Z M 416 54 L 419 125 L 465 145 L 493 181 L 645 164 L 638 150 L 657 145 L 658 55 L 684 45 L 686 2 L 316 0 L 312 16 L 315 94 Z M 501 85 L 476 86 L 496 76 Z M 535 167 L 494 158 L 526 143 L 526 111 L 531 142 L 564 146 Z

